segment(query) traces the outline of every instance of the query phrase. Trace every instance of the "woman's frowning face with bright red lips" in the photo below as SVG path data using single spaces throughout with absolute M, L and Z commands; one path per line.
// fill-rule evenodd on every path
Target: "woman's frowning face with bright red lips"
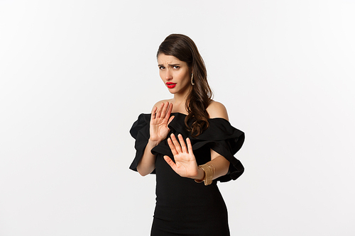
M 170 55 L 158 55 L 159 75 L 172 94 L 185 94 L 190 91 L 191 69 L 186 62 Z

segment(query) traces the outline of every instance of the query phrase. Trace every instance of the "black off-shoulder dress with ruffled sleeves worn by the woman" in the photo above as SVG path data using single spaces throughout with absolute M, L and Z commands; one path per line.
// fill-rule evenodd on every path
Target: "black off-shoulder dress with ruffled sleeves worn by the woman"
M 231 164 L 228 174 L 204 186 L 203 183 L 197 184 L 194 179 L 179 176 L 165 162 L 165 154 L 174 160 L 167 140 L 154 147 L 151 152 L 156 154 L 155 170 L 152 172 L 156 174 L 156 206 L 151 235 L 230 235 L 226 205 L 217 181 L 230 181 L 243 174 L 244 167 L 234 154 L 243 145 L 244 133 L 223 118 L 212 118 L 209 119 L 207 130 L 198 137 L 192 137 L 185 128 L 186 115 L 173 115 L 175 118 L 168 125 L 170 133 L 180 133 L 184 140 L 190 138 L 198 165 L 211 160 L 210 149 L 221 154 Z M 136 157 L 130 167 L 134 171 L 148 143 L 150 120 L 151 114 L 141 114 L 130 130 L 136 139 Z

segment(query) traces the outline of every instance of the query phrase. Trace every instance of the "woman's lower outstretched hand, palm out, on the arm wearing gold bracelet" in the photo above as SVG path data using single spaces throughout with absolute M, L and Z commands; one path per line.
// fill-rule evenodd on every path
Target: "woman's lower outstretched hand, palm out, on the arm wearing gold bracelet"
M 173 152 L 175 163 L 170 157 L 166 155 L 164 156 L 165 161 L 180 176 L 195 179 L 198 174 L 198 167 L 195 155 L 192 152 L 192 145 L 190 139 L 187 137 L 186 147 L 182 135 L 178 135 L 180 143 L 178 142 L 174 134 L 171 134 L 170 137 L 171 138 L 168 138 L 168 145 L 170 147 L 171 152 Z

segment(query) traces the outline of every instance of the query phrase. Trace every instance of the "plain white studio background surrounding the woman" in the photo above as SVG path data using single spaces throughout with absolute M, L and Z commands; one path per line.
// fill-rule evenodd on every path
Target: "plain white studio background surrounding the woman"
M 195 40 L 246 133 L 219 184 L 231 235 L 355 235 L 355 3 L 0 0 L 0 235 L 148 235 L 140 113 L 171 95 L 155 53 Z

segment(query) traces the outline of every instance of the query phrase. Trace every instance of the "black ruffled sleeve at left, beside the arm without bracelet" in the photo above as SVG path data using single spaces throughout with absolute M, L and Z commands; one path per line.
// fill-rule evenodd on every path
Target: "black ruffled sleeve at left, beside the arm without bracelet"
M 141 114 L 138 116 L 138 120 L 133 123 L 131 130 L 132 137 L 136 140 L 134 148 L 136 148 L 136 157 L 134 157 L 133 162 L 129 169 L 137 171 L 138 162 L 141 160 L 146 145 L 150 137 L 149 134 L 149 123 L 151 121 L 151 114 Z M 155 170 L 151 173 L 155 174 Z

